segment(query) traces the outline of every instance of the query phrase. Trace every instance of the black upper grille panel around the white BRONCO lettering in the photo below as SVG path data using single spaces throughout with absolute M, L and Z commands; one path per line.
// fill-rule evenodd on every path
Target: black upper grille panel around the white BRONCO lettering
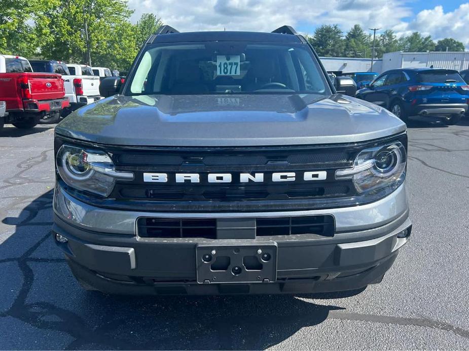
M 155 212 L 274 212 L 354 206 L 376 201 L 362 196 L 351 180 L 336 180 L 337 169 L 351 168 L 365 148 L 390 141 L 407 145 L 407 136 L 348 144 L 275 147 L 130 147 L 92 145 L 110 154 L 116 169 L 133 172 L 99 198 L 61 185 L 78 199 L 106 208 Z M 73 143 L 71 143 L 73 145 Z M 304 180 L 304 172 L 326 171 L 326 179 Z M 294 172 L 293 182 L 274 182 L 273 173 Z M 167 174 L 166 182 L 144 182 L 143 173 Z M 200 176 L 198 183 L 176 183 L 176 173 Z M 230 173 L 229 183 L 210 183 L 208 174 Z M 264 174 L 262 182 L 241 182 L 240 174 Z

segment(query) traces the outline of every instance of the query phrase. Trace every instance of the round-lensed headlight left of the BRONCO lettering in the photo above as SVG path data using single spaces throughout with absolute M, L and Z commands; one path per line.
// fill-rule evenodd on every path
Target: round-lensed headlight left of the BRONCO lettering
M 111 194 L 116 180 L 133 180 L 133 173 L 116 171 L 111 157 L 102 151 L 62 145 L 57 152 L 56 165 L 69 187 L 103 197 Z

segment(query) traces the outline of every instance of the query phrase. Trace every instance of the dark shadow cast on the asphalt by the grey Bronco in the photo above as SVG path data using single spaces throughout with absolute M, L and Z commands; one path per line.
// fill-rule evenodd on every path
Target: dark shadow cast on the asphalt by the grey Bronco
M 23 336 L 18 340 L 0 330 L 6 335 L 0 349 L 264 349 L 322 323 L 331 311 L 344 310 L 309 299 L 363 291 L 299 296 L 87 292 L 71 276 L 50 235 L 52 190 L 9 206 L 24 207 L 18 216 L 2 218 L 4 227 L 16 229 L 0 244 L 0 317 L 17 321 L 15 335 Z

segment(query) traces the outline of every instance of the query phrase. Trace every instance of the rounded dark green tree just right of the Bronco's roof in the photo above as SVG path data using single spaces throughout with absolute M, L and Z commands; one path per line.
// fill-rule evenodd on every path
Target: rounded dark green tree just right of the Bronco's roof
M 337 24 L 317 27 L 309 41 L 319 56 L 343 56 L 343 33 Z

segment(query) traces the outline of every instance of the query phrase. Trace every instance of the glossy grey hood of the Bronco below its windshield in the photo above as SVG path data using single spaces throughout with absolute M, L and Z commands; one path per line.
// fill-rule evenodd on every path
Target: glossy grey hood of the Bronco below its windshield
M 406 130 L 383 108 L 342 95 L 144 95 L 82 107 L 56 133 L 126 146 L 269 146 L 360 142 Z

